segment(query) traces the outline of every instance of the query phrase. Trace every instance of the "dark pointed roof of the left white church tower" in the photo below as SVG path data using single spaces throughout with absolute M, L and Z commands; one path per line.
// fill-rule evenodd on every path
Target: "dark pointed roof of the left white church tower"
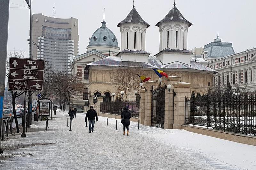
M 127 15 L 127 17 L 118 23 L 118 27 L 120 27 L 120 24 L 122 23 L 143 23 L 147 25 L 147 28 L 150 26 L 146 21 L 144 21 L 141 17 L 140 14 L 136 11 L 136 9 L 133 7 L 132 11 Z

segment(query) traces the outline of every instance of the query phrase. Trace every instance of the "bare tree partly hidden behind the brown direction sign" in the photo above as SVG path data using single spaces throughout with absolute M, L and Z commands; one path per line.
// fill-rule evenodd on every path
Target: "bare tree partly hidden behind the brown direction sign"
M 10 57 L 24 58 L 24 51 L 15 51 L 15 49 L 14 49 L 13 52 L 10 52 L 9 58 Z M 6 75 L 5 75 L 8 78 L 9 78 L 9 64 L 10 64 L 9 58 L 6 61 L 6 70 L 7 71 L 6 71 Z M 12 91 L 12 109 L 13 109 L 13 115 L 14 115 L 17 133 L 20 133 L 20 129 L 19 129 L 19 123 L 18 123 L 16 109 L 15 109 L 16 98 L 21 96 L 23 93 L 24 92 L 20 92 L 20 91 Z M 26 108 L 24 108 L 24 112 L 26 112 Z

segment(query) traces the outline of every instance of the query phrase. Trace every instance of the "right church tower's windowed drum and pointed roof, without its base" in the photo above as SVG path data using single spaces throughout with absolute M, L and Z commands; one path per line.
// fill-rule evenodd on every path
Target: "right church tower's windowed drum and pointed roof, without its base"
M 191 26 L 192 23 L 183 17 L 175 6 L 175 2 L 173 5 L 173 8 L 164 19 L 156 24 L 160 32 L 159 51 L 165 48 L 187 49 L 188 27 Z

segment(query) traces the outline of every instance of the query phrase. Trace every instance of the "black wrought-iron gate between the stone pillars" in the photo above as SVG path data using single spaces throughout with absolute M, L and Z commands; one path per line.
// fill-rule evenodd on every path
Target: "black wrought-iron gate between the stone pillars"
M 151 102 L 151 126 L 164 128 L 164 87 L 153 89 Z

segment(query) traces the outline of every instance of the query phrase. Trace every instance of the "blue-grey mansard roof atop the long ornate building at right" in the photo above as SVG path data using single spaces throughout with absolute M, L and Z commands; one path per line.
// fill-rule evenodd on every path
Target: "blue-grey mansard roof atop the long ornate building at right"
M 217 57 L 217 58 L 235 53 L 232 47 L 232 43 L 222 42 L 219 36 L 214 40 L 214 42 L 210 42 L 209 44 L 205 45 L 204 51 L 207 51 L 206 57 Z

